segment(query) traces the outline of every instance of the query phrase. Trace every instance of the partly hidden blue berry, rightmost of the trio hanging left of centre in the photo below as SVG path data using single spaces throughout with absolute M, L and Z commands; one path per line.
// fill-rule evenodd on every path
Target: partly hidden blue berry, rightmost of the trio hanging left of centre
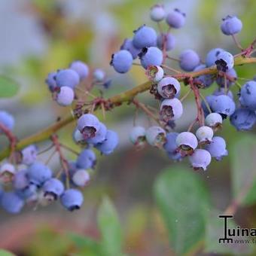
M 119 138 L 117 133 L 112 130 L 108 130 L 105 140 L 99 144 L 95 145 L 95 148 L 98 149 L 102 154 L 111 154 L 115 148 L 117 148 Z

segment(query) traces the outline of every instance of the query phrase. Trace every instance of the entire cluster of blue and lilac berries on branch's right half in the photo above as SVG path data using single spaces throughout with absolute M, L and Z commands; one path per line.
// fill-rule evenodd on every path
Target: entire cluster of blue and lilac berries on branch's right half
M 133 38 L 125 39 L 120 50 L 112 55 L 111 66 L 119 73 L 128 72 L 133 66 L 133 60 L 139 58 L 140 65 L 146 70 L 146 75 L 152 83 L 151 90 L 156 99 L 160 100 L 160 121 L 163 126 L 151 126 L 147 130 L 143 126 L 134 126 L 130 133 L 130 140 L 141 147 L 148 142 L 158 148 L 163 148 L 172 160 L 182 160 L 188 156 L 194 169 L 206 170 L 212 160 L 221 160 L 227 156 L 226 142 L 215 133 L 222 123 L 230 117 L 230 123 L 237 130 L 250 130 L 256 121 L 256 81 L 248 81 L 239 90 L 239 102 L 234 102 L 230 87 L 236 84 L 236 70 L 233 54 L 221 48 L 215 48 L 206 55 L 205 62 L 194 50 L 184 50 L 178 59 L 180 68 L 186 72 L 199 72 L 215 66 L 218 74 L 198 75 L 192 81 L 197 90 L 210 87 L 214 82 L 218 84 L 212 95 L 201 96 L 200 107 L 203 120 L 197 120 L 200 126 L 195 133 L 191 127 L 182 133 L 169 133 L 166 124 L 173 123 L 183 114 L 181 100 L 179 100 L 181 85 L 176 78 L 181 78 L 181 72 L 166 75 L 163 65 L 169 50 L 175 47 L 172 29 L 184 26 L 186 16 L 178 9 L 166 13 L 163 5 L 151 8 L 151 20 L 160 23 L 165 20 L 169 26 L 168 32 L 157 35 L 154 28 L 140 26 L 134 31 Z M 160 25 L 160 24 L 158 24 Z M 160 27 L 160 26 L 159 26 Z M 224 35 L 235 37 L 242 29 L 242 22 L 235 16 L 228 15 L 222 20 L 221 31 Z M 172 58 L 169 58 L 172 59 Z M 174 59 L 174 58 L 173 58 Z M 168 68 L 168 67 L 167 67 Z M 183 79 L 186 84 L 185 79 Z M 187 84 L 189 84 L 187 82 Z M 192 126 L 193 127 L 193 126 Z

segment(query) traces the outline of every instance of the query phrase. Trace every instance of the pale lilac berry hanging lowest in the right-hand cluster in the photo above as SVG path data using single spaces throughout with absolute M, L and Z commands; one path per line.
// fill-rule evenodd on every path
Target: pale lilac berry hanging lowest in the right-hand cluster
M 211 154 L 205 149 L 197 148 L 189 157 L 190 163 L 195 170 L 203 169 L 206 171 L 207 166 L 211 163 Z

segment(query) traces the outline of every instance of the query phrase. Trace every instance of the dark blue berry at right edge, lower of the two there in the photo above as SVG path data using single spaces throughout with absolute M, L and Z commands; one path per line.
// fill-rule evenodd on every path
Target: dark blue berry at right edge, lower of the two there
M 230 116 L 230 123 L 237 130 L 251 130 L 256 122 L 256 114 L 249 108 L 237 108 Z

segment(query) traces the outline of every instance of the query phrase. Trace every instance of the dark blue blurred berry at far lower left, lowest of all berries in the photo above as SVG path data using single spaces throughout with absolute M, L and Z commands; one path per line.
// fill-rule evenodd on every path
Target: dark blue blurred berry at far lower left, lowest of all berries
M 5 192 L 2 194 L 1 205 L 6 212 L 16 214 L 23 209 L 24 201 L 15 192 Z

